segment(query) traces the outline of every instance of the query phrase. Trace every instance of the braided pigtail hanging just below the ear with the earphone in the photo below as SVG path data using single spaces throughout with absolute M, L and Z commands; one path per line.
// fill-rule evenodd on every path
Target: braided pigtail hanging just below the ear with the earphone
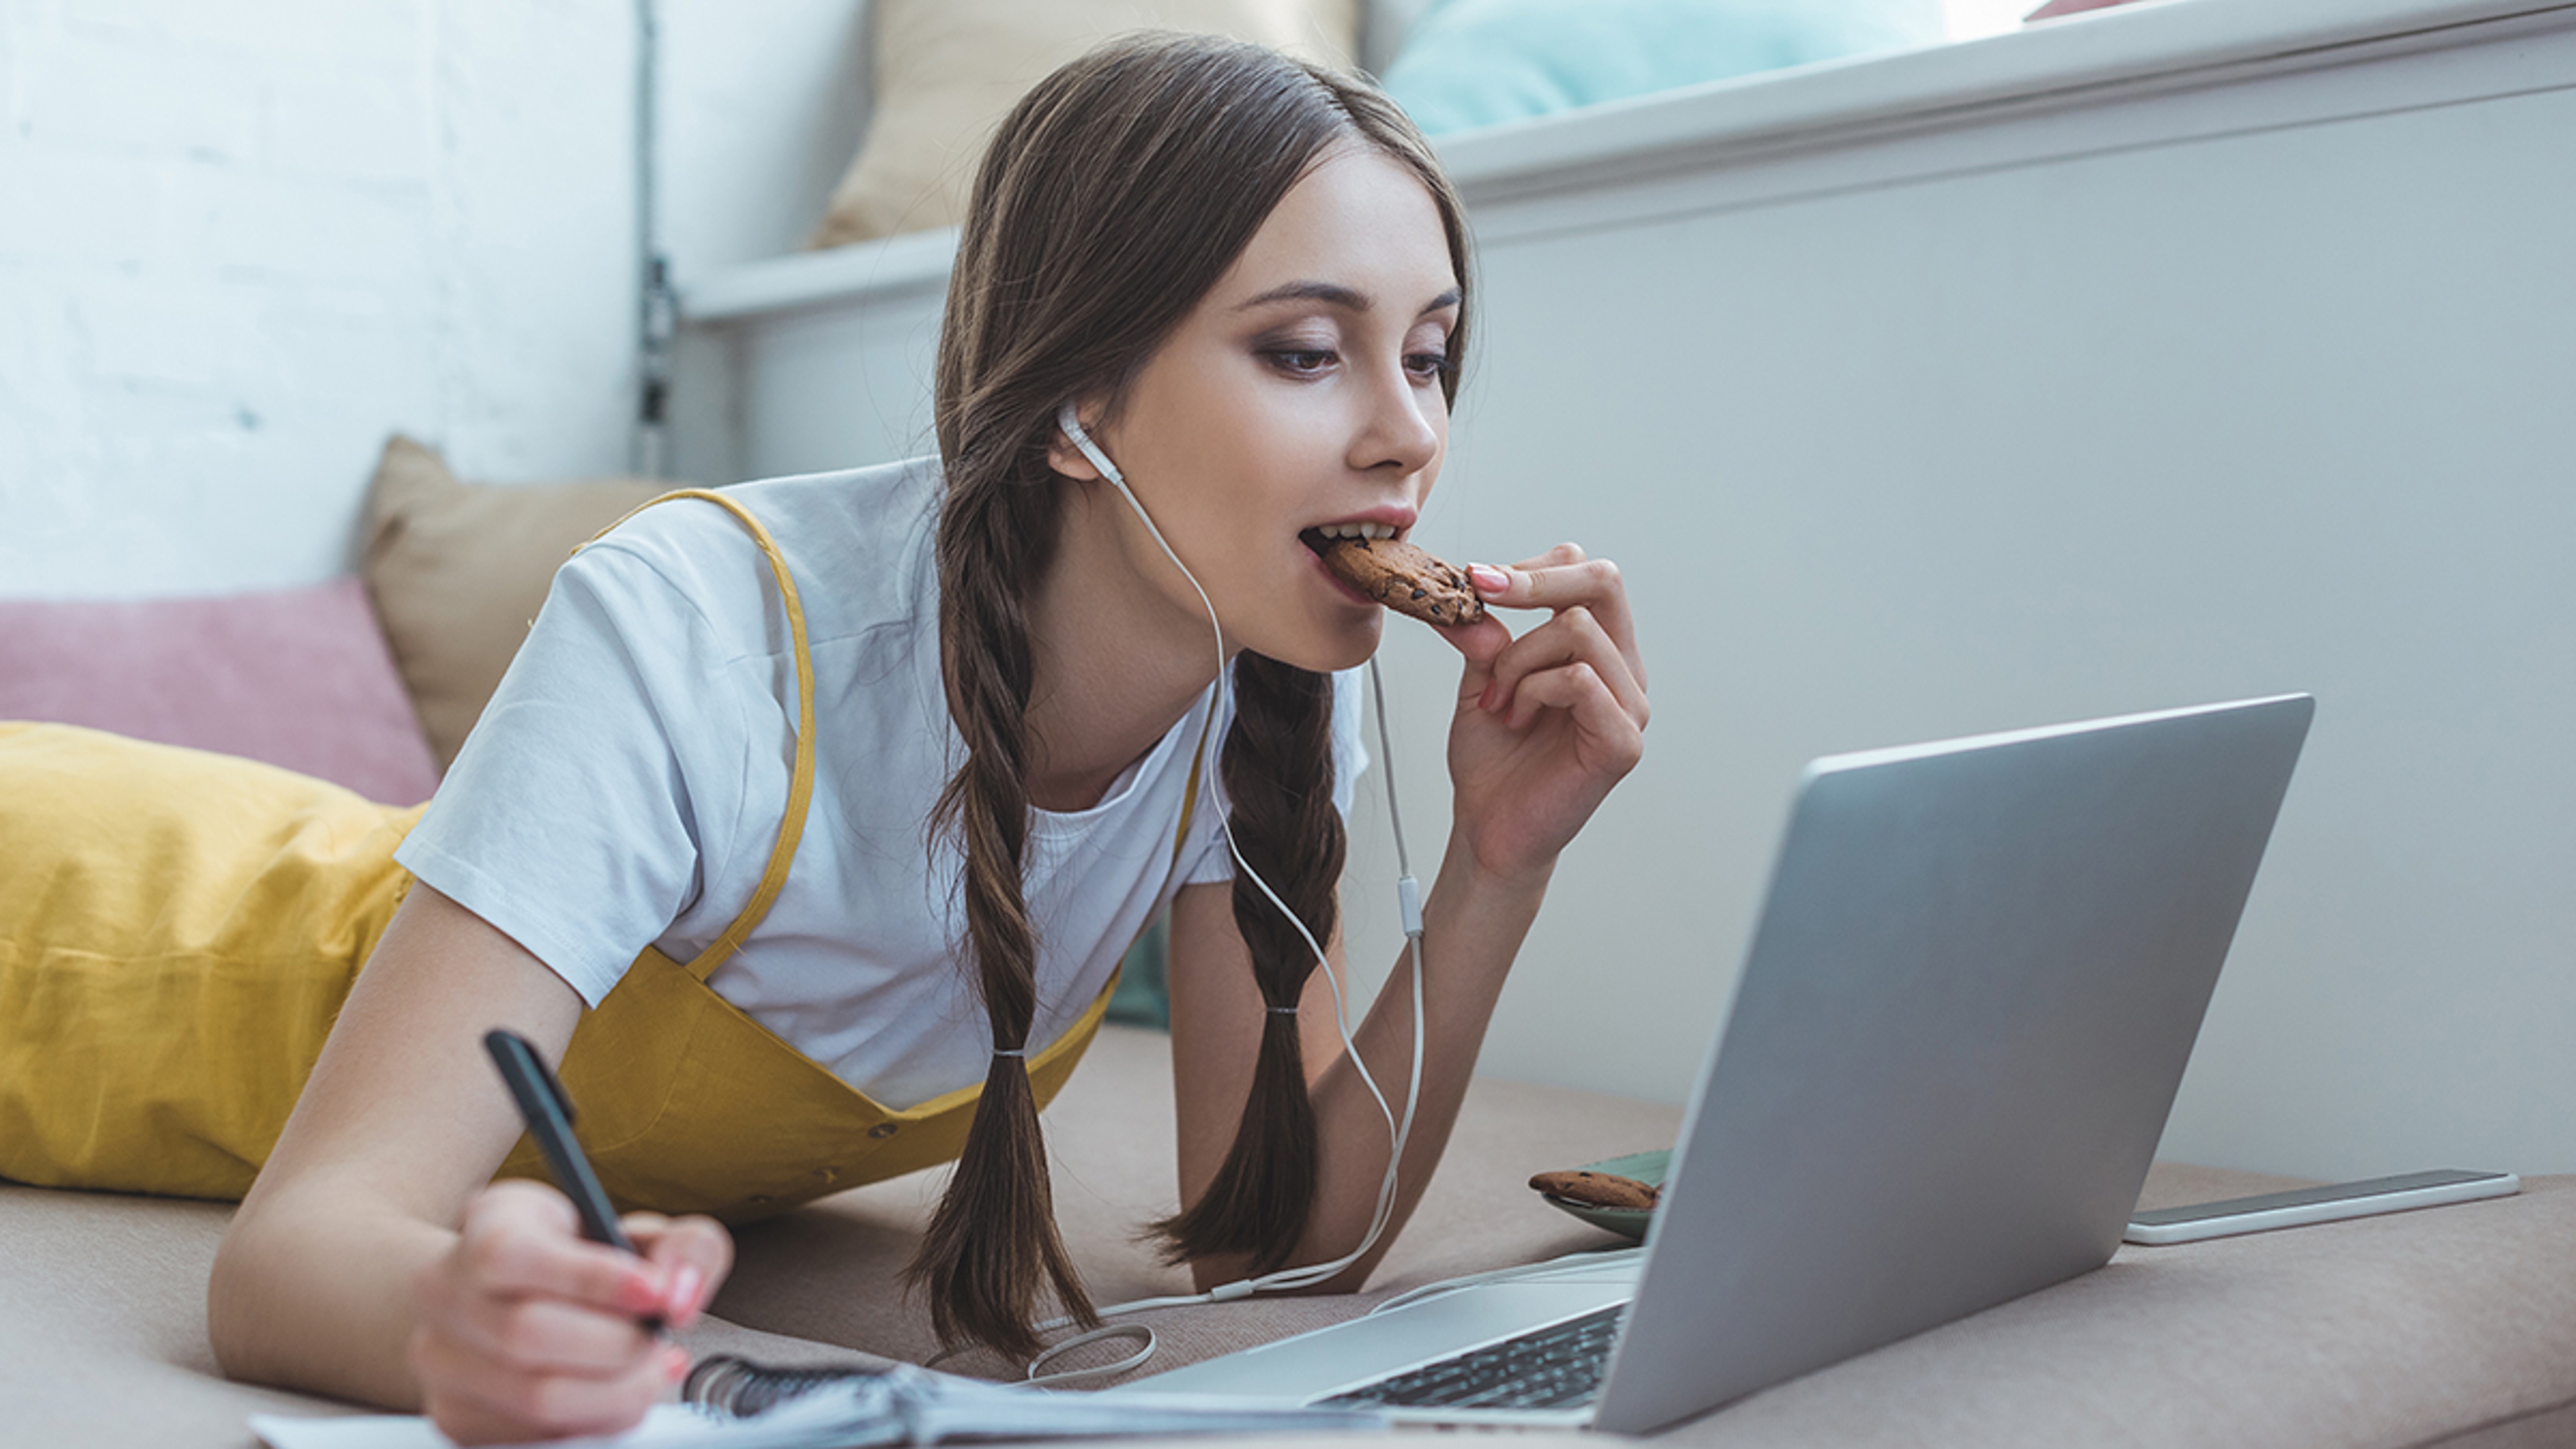
M 940 1343 L 1038 1351 L 1038 1289 L 1082 1323 L 1092 1299 L 1056 1232 L 1028 1029 L 1038 1013 L 1038 933 L 1020 895 L 1028 848 L 1028 614 L 1020 588 L 1054 547 L 1046 487 L 951 492 L 940 511 L 940 668 L 966 766 L 940 792 L 935 825 L 966 846 L 966 944 L 992 1021 L 992 1067 L 966 1150 L 930 1217 L 907 1281 L 927 1289 Z

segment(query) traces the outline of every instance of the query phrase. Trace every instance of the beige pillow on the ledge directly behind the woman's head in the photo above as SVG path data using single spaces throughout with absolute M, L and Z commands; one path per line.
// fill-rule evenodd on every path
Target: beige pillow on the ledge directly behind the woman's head
M 1360 41 L 1360 0 L 876 0 L 873 10 L 876 111 L 814 248 L 958 224 L 984 142 L 1012 103 L 1110 36 L 1234 36 L 1337 67 Z

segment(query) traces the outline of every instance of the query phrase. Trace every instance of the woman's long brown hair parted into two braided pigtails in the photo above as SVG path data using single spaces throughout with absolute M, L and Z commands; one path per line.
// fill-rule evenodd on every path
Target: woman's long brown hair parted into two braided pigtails
M 966 851 L 966 949 L 994 1052 L 1023 1052 L 1036 1016 L 1038 928 L 1023 900 L 1028 843 L 1028 598 L 1056 549 L 1056 407 L 1115 413 L 1154 348 L 1234 266 L 1278 201 L 1334 144 L 1412 168 L 1466 284 L 1466 222 L 1422 134 L 1365 80 L 1275 52 L 1141 34 L 1054 72 L 1002 121 L 966 209 L 938 353 L 940 673 L 966 763 L 935 830 Z M 1466 315 L 1443 389 L 1455 397 Z M 1239 655 L 1221 776 L 1234 838 L 1314 936 L 1334 928 L 1342 817 L 1332 807 L 1332 678 Z M 1234 918 L 1262 998 L 1296 1006 L 1314 967 L 1296 931 L 1236 879 Z M 1242 1129 L 1216 1183 L 1159 1222 L 1175 1258 L 1249 1253 L 1278 1266 L 1314 1204 L 1314 1104 L 1296 1018 L 1265 1016 Z M 994 1055 L 948 1191 L 909 1279 L 943 1343 L 1038 1348 L 1041 1289 L 1095 1320 L 1056 1232 L 1023 1057 Z

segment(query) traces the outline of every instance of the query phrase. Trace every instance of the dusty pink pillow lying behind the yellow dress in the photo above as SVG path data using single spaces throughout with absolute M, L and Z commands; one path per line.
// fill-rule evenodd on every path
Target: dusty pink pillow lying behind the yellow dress
M 0 601 L 0 719 L 250 755 L 381 804 L 438 789 L 355 578 L 232 598 Z

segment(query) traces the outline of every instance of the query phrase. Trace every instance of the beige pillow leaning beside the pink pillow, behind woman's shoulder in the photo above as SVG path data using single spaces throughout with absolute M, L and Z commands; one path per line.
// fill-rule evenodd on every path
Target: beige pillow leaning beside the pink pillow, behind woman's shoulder
M 528 637 L 554 570 L 592 534 L 680 482 L 603 477 L 489 487 L 456 482 L 394 436 L 366 495 L 366 593 L 438 768 L 474 730 Z

